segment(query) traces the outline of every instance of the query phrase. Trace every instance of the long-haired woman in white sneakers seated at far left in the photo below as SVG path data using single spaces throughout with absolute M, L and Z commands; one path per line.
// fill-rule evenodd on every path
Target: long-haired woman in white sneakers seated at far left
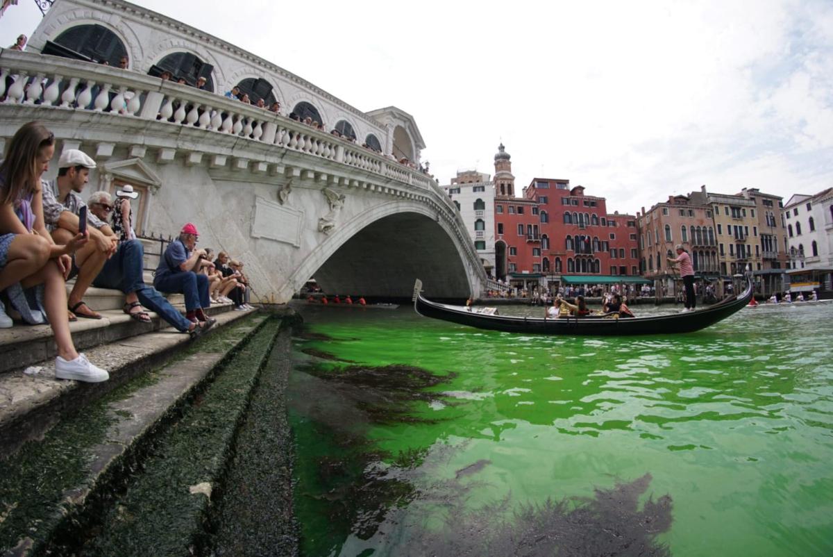
M 0 163 L 0 291 L 6 291 L 29 323 L 42 323 L 45 309 L 57 346 L 57 379 L 97 383 L 110 376 L 72 344 L 64 283 L 72 264 L 69 256 L 87 243 L 87 236 L 78 233 L 56 244 L 43 221 L 41 175 L 54 153 L 55 136 L 37 122 L 24 124 L 6 144 L 6 158 Z M 38 287 L 36 307 L 24 292 L 32 287 Z

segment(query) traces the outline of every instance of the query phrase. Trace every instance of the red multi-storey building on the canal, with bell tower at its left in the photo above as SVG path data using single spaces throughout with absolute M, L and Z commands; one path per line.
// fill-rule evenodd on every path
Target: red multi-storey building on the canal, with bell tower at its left
M 503 145 L 495 171 L 497 278 L 551 288 L 576 282 L 579 275 L 586 275 L 588 284 L 639 277 L 636 217 L 608 213 L 605 198 L 586 195 L 585 188 L 571 188 L 564 179 L 534 178 L 516 198 Z

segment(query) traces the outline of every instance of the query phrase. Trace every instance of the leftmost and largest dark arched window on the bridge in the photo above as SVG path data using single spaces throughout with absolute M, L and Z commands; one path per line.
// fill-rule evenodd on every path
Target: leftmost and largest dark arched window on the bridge
M 47 41 L 43 54 L 76 58 L 88 62 L 107 62 L 118 68 L 122 56 L 127 56 L 127 48 L 116 33 L 101 25 L 77 25 L 57 36 L 54 43 Z

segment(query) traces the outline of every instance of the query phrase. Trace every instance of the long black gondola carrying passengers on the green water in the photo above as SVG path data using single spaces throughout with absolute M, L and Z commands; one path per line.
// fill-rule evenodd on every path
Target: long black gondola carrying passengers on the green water
M 467 308 L 437 304 L 422 296 L 422 281 L 414 284 L 413 303 L 416 313 L 424 317 L 451 321 L 477 329 L 489 329 L 505 333 L 525 334 L 568 334 L 586 336 L 615 336 L 631 334 L 678 334 L 693 333 L 706 329 L 743 309 L 752 298 L 752 282 L 746 276 L 746 290 L 739 296 L 728 296 L 717 304 L 696 311 L 612 319 L 605 316 L 569 318 L 511 317 L 506 315 L 485 315 Z

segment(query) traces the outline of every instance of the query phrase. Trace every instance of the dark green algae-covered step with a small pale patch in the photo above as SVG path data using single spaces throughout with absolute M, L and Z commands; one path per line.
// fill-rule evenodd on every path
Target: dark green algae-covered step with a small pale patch
M 204 554 L 208 510 L 232 455 L 250 394 L 272 350 L 270 320 L 219 369 L 176 424 L 149 444 L 121 492 L 82 531 L 53 540 L 59 554 L 87 556 Z M 85 535 L 86 534 L 86 535 Z

